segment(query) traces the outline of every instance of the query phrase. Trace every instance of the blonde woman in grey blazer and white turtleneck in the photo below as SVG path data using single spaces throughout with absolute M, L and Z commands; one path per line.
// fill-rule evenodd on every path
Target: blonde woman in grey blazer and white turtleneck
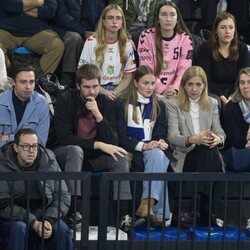
M 168 140 L 174 147 L 175 159 L 171 166 L 175 172 L 223 171 L 218 147 L 223 146 L 225 133 L 217 106 L 217 101 L 208 96 L 204 70 L 199 66 L 188 68 L 176 100 L 167 100 Z M 208 190 L 205 184 L 198 189 L 206 201 Z M 213 213 L 218 214 L 219 203 L 213 202 L 213 206 Z M 198 207 L 198 212 L 204 214 L 205 211 L 199 211 Z

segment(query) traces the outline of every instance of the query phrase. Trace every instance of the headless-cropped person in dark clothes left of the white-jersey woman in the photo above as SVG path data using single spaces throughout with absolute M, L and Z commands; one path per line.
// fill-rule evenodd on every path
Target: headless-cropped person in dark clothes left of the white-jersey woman
M 64 41 L 61 81 L 75 87 L 75 75 L 84 40 L 96 29 L 106 0 L 58 0 L 53 28 Z

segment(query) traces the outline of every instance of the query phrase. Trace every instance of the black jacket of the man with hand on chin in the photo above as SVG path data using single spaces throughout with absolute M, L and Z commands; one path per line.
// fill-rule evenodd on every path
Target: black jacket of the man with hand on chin
M 96 97 L 96 102 L 103 120 L 96 123 L 97 134 L 94 139 L 82 139 L 77 135 L 79 118 L 89 114 L 78 90 L 64 92 L 58 97 L 55 106 L 54 122 L 59 144 L 80 146 L 85 159 L 93 159 L 101 153 L 94 150 L 95 141 L 118 144 L 114 102 L 101 94 Z

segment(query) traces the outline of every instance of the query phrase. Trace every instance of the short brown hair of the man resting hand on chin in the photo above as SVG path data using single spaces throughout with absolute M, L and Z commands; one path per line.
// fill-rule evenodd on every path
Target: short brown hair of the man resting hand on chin
M 78 86 L 81 85 L 82 79 L 92 80 L 98 79 L 101 81 L 101 71 L 99 67 L 95 64 L 83 64 L 76 71 L 76 83 Z

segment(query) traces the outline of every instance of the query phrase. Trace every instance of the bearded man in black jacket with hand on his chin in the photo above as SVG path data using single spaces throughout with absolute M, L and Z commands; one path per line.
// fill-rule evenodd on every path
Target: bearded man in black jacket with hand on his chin
M 72 145 L 84 152 L 83 170 L 129 172 L 127 152 L 118 147 L 115 107 L 113 101 L 99 93 L 101 72 L 96 65 L 85 64 L 77 70 L 76 90 L 64 92 L 55 106 L 55 129 L 61 148 L 59 161 Z M 79 152 L 80 153 L 80 152 Z M 82 171 L 79 165 L 65 171 Z M 117 199 L 118 183 L 113 185 Z M 78 187 L 77 194 L 80 195 Z M 129 183 L 121 182 L 120 199 L 131 199 Z

